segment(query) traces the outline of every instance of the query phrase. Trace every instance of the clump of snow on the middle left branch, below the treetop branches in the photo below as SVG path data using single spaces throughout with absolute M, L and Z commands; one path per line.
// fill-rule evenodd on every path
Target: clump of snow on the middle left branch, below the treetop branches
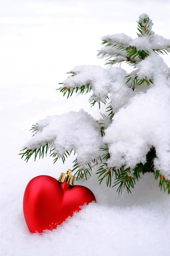
M 111 95 L 114 112 L 124 106 L 134 94 L 126 84 L 126 71 L 120 67 L 104 69 L 94 65 L 81 65 L 74 67 L 71 71 L 75 75 L 64 80 L 63 87 L 80 88 L 90 83 L 93 94 L 89 100 L 98 99 L 104 102 L 106 97 Z

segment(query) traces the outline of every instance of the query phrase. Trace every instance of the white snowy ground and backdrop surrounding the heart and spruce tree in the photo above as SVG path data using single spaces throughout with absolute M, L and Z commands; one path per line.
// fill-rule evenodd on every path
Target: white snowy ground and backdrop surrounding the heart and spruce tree
M 77 181 L 93 191 L 97 204 L 46 234 L 30 234 L 22 199 L 26 184 L 37 175 L 56 179 L 71 168 L 53 159 L 18 156 L 31 137 L 32 124 L 47 115 L 84 108 L 95 116 L 88 97 L 66 100 L 58 83 L 75 65 L 101 65 L 96 58 L 100 38 L 125 33 L 136 37 L 138 17 L 148 13 L 153 30 L 169 38 L 169 1 L 1 1 L 1 245 L 4 256 L 168 256 L 170 254 L 170 196 L 146 173 L 132 194 L 99 185 L 96 175 Z M 170 66 L 170 57 L 164 60 Z M 96 116 L 95 116 L 96 117 Z

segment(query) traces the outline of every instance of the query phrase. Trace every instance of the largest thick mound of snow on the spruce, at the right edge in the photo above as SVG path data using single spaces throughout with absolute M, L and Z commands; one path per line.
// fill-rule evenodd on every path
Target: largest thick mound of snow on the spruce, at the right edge
M 140 75 L 147 74 L 147 67 L 154 85 L 148 86 L 146 93 L 132 97 L 114 115 L 105 132 L 104 142 L 110 152 L 108 164 L 134 168 L 146 162 L 146 154 L 154 146 L 155 168 L 170 179 L 170 81 L 165 76 L 169 70 L 157 54 L 141 61 Z

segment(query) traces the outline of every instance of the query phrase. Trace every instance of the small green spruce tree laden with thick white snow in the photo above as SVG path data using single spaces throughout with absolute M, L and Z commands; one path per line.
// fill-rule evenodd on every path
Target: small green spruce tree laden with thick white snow
M 170 193 L 170 68 L 160 56 L 170 52 L 170 40 L 155 34 L 152 25 L 142 14 L 137 38 L 104 36 L 98 57 L 108 66 L 74 67 L 57 88 L 67 98 L 89 93 L 89 103 L 98 103 L 99 111 L 105 104 L 101 119 L 80 110 L 40 120 L 21 157 L 28 161 L 49 153 L 54 162 L 61 158 L 64 163 L 73 153 L 77 178 L 87 179 L 95 169 L 99 182 L 117 186 L 119 193 L 123 188 L 131 192 L 141 175 L 152 172 Z

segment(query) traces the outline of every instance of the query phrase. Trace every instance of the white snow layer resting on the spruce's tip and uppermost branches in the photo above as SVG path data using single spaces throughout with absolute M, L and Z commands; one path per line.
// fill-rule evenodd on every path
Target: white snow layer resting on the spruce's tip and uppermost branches
M 103 36 L 101 39 L 103 41 L 106 40 L 108 44 L 101 48 L 100 55 L 108 57 L 117 56 L 121 61 L 122 56 L 127 57 L 126 49 L 130 46 L 136 47 L 138 51 L 144 50 L 148 52 L 166 49 L 170 46 L 170 39 L 163 38 L 163 36 L 159 36 L 152 31 L 153 23 L 148 17 L 148 14 L 143 13 L 140 15 L 139 22 L 141 22 L 142 26 L 146 27 L 146 33 L 138 34 L 138 37 L 135 39 L 123 33 Z M 121 48 L 119 48 L 119 46 L 121 46 Z M 136 59 L 137 62 L 139 61 L 137 56 L 133 56 L 133 58 Z

